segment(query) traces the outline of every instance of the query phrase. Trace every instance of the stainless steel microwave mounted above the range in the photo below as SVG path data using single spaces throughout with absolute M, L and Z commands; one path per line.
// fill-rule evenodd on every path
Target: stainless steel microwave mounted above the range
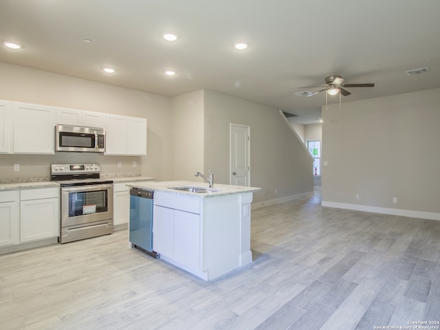
M 55 126 L 55 151 L 103 153 L 105 130 L 97 127 Z

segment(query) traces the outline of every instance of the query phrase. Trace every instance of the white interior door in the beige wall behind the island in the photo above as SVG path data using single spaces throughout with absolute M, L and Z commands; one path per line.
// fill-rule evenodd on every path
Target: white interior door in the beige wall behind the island
M 250 186 L 250 126 L 230 123 L 230 184 Z

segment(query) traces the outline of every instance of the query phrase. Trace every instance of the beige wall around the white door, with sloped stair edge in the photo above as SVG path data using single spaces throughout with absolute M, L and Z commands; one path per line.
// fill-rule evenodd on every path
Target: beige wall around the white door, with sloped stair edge
M 229 184 L 230 122 L 250 126 L 255 202 L 313 192 L 312 159 L 278 109 L 205 90 L 204 170 L 214 181 Z

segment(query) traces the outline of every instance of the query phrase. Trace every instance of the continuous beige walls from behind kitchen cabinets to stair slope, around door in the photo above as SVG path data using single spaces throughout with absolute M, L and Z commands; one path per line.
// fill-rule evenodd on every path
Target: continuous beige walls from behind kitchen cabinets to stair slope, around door
M 0 63 L 0 73 L 0 99 L 148 120 L 145 157 L 0 155 L 1 177 L 48 177 L 50 164 L 92 162 L 101 164 L 102 173 L 141 173 L 158 181 L 197 181 L 195 171 L 212 170 L 215 182 L 229 184 L 229 131 L 235 122 L 251 126 L 251 184 L 263 188 L 254 201 L 313 192 L 311 157 L 278 109 L 203 90 L 167 98 L 7 63 Z M 16 163 L 19 172 L 13 171 Z

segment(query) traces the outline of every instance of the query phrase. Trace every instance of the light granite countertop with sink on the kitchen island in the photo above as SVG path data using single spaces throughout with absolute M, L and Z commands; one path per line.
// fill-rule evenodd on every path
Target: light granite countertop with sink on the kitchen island
M 200 181 L 159 181 L 159 182 L 140 182 L 138 184 L 127 184 L 129 187 L 135 187 L 145 190 L 153 190 L 160 192 L 170 192 L 171 194 L 185 195 L 192 197 L 219 197 L 224 195 L 243 194 L 245 192 L 256 192 L 261 188 L 255 187 L 243 187 L 243 186 L 230 186 L 228 184 L 215 184 L 213 188 L 209 188 L 209 185 Z M 173 187 L 197 187 L 207 188 L 208 192 L 189 192 L 182 190 L 170 189 Z

